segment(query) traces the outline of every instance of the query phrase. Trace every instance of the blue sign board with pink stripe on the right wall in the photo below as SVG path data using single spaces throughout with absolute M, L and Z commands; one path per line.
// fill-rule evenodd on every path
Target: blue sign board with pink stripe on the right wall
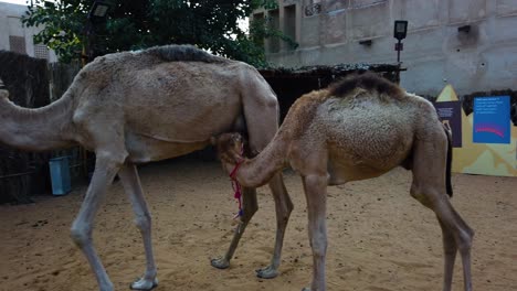
M 474 98 L 474 132 L 476 143 L 510 143 L 510 97 Z

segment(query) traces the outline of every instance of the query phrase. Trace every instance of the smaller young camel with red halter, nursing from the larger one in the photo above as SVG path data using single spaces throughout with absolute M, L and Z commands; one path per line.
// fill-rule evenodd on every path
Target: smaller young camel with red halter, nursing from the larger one
M 302 96 L 273 141 L 252 160 L 241 157 L 239 133 L 221 134 L 212 143 L 243 186 L 264 184 L 287 163 L 302 176 L 313 249 L 313 280 L 304 290 L 325 290 L 327 185 L 379 176 L 402 165 L 413 172 L 411 195 L 436 214 L 442 228 L 443 290 L 451 290 L 460 250 L 465 291 L 471 291 L 474 233 L 446 195 L 452 195 L 449 134 L 431 103 L 367 73 Z

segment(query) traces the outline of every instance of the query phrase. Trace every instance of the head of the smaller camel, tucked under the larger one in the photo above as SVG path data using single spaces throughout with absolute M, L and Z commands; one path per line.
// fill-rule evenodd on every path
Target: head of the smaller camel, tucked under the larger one
M 243 161 L 244 140 L 240 133 L 222 133 L 219 137 L 212 137 L 210 142 L 217 148 L 222 163 L 234 165 Z

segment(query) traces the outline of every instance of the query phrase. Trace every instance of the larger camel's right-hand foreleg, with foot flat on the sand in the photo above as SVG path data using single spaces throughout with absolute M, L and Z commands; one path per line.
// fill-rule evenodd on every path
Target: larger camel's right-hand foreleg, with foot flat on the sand
M 140 230 L 146 251 L 146 272 L 144 277 L 134 282 L 130 288 L 134 290 L 151 290 L 158 285 L 155 257 L 152 255 L 151 217 L 144 197 L 138 171 L 134 164 L 125 163 L 118 172 L 118 176 L 131 201 L 133 211 L 135 212 L 135 224 Z

